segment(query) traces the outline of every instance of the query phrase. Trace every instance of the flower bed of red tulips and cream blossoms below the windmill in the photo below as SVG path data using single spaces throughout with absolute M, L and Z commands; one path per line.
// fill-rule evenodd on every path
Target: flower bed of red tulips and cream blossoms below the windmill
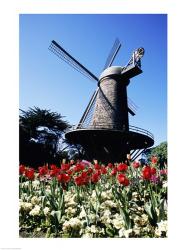
M 20 237 L 167 237 L 167 169 L 155 158 L 19 171 Z

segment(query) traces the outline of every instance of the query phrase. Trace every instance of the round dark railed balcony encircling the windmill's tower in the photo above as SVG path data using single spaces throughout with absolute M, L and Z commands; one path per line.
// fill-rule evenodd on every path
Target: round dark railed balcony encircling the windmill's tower
M 65 137 L 70 143 L 86 147 L 92 141 L 93 145 L 99 144 L 100 148 L 106 147 L 106 145 L 111 147 L 112 144 L 113 148 L 118 147 L 118 150 L 125 148 L 126 151 L 145 149 L 154 144 L 153 134 L 145 129 L 129 126 L 127 130 L 125 127 L 119 128 L 118 124 L 109 126 L 108 123 L 97 123 L 97 126 L 79 123 L 69 128 Z

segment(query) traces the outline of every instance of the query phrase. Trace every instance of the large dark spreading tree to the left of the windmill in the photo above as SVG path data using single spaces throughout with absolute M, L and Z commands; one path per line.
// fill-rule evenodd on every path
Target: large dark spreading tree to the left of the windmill
M 35 167 L 57 161 L 59 140 L 69 123 L 60 114 L 38 107 L 20 111 L 20 164 Z

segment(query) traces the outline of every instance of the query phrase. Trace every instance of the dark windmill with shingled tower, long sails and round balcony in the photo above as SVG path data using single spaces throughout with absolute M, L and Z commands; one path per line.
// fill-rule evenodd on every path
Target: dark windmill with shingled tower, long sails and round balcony
M 53 40 L 49 47 L 59 58 L 97 82 L 97 88 L 79 123 L 65 134 L 69 143 L 84 149 L 88 160 L 119 162 L 124 161 L 129 153 L 135 159 L 154 144 L 150 132 L 129 125 L 129 113 L 135 115 L 135 105 L 127 97 L 127 86 L 131 78 L 142 73 L 144 49 L 136 49 L 126 66 L 112 66 L 120 47 L 121 43 L 116 39 L 99 77 L 56 41 Z

